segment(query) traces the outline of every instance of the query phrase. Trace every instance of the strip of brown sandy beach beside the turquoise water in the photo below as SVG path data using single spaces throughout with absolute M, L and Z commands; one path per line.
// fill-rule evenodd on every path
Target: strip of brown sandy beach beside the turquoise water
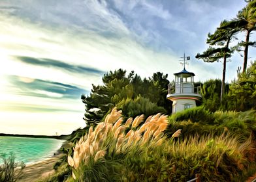
M 27 164 L 22 171 L 18 181 L 34 182 L 38 181 L 42 177 L 48 177 L 48 175 L 54 173 L 54 164 L 59 160 L 61 156 L 63 156 L 63 154 L 57 154 L 43 161 Z

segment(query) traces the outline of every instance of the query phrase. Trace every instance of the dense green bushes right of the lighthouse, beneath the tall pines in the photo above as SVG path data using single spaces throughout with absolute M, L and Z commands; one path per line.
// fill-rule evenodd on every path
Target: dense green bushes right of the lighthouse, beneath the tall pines
M 238 79 L 225 85 L 223 101 L 220 102 L 221 81 L 206 81 L 202 86 L 202 105 L 210 110 L 246 111 L 256 109 L 256 62 L 252 62 L 247 72 L 238 71 Z

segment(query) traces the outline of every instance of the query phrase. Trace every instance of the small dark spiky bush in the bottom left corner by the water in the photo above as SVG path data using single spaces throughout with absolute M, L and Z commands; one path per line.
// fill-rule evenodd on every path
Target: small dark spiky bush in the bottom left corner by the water
M 5 153 L 1 153 L 0 157 L 2 159 L 2 161 L 0 160 L 0 182 L 17 181 L 25 168 L 24 162 L 15 162 L 13 153 L 10 153 L 8 157 Z M 18 167 L 20 168 L 18 169 Z

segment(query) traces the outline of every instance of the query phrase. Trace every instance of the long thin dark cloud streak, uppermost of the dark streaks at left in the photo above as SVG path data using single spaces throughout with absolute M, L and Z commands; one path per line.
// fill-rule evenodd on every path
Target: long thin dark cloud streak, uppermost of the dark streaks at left
M 74 73 L 91 73 L 91 74 L 97 74 L 97 75 L 102 75 L 104 73 L 103 71 L 97 70 L 96 68 L 89 68 L 85 66 L 68 64 L 60 60 L 34 58 L 34 57 L 22 57 L 22 56 L 16 56 L 15 58 L 27 64 L 52 67 L 52 68 L 57 68 L 63 71 L 69 71 Z

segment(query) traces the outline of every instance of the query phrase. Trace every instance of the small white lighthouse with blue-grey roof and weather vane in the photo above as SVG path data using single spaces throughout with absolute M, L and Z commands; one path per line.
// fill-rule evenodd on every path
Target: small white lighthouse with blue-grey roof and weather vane
M 182 63 L 184 64 L 184 70 L 182 70 L 182 72 L 174 73 L 175 86 L 171 84 L 168 85 L 167 99 L 172 101 L 172 114 L 185 109 L 196 107 L 197 105 L 195 101 L 202 98 L 202 96 L 199 94 L 200 86 L 198 86 L 196 89 L 194 86 L 195 74 L 185 70 L 185 64 L 187 64 L 185 61 L 189 60 L 190 57 L 185 57 L 184 54 L 183 58 L 184 60 L 181 61 L 184 61 Z M 174 94 L 171 94 L 171 90 L 173 90 L 172 88 L 175 89 Z

